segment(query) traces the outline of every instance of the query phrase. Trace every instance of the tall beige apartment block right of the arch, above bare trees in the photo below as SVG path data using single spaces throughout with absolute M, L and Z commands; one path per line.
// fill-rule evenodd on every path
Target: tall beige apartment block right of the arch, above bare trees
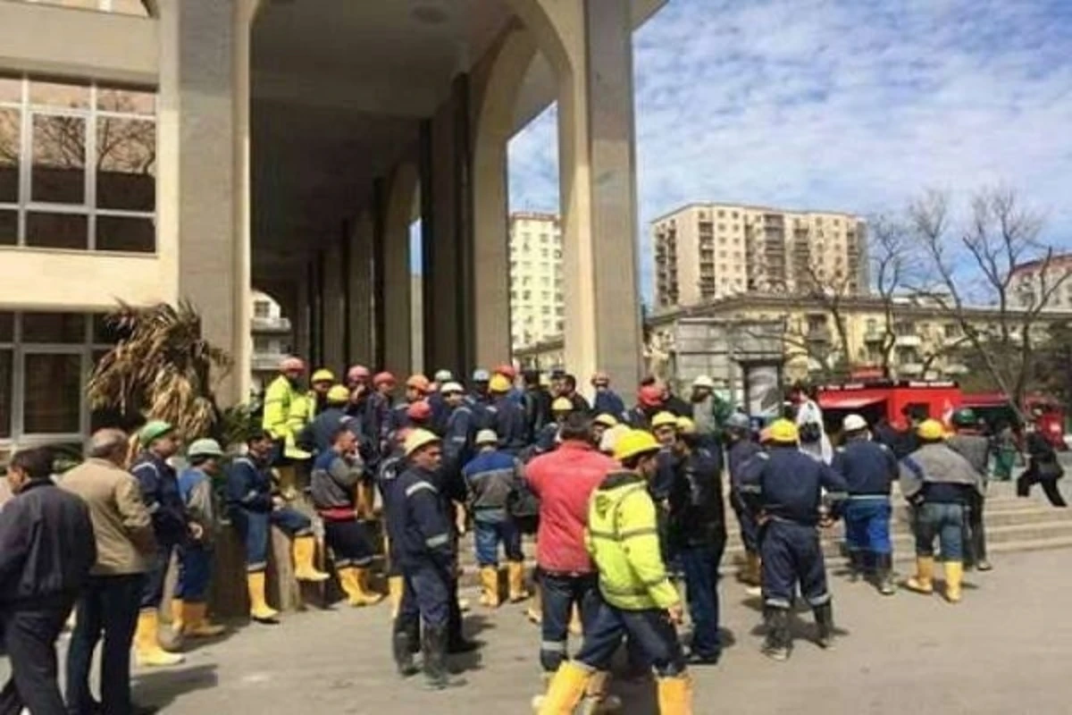
M 867 291 L 865 224 L 849 213 L 689 204 L 652 223 L 657 307 L 748 292 Z

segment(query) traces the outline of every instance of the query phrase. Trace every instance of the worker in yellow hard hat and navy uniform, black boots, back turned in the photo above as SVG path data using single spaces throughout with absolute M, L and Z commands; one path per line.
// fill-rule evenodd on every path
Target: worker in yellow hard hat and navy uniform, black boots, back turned
M 798 448 L 796 424 L 778 419 L 769 429 L 769 451 L 756 455 L 745 466 L 740 492 L 760 523 L 765 524 L 760 537 L 766 623 L 763 653 L 785 660 L 792 650 L 789 612 L 798 585 L 815 612 L 818 644 L 829 647 L 832 643 L 834 611 L 816 526 L 837 518 L 848 488 L 825 462 Z M 829 500 L 825 509 L 823 490 Z

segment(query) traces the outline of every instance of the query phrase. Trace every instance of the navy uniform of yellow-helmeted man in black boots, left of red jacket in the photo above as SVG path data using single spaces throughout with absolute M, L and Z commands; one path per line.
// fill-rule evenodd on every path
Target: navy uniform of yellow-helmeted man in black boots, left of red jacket
M 385 505 L 387 528 L 405 583 L 396 629 L 423 621 L 427 629 L 445 634 L 456 558 L 450 518 L 434 474 L 413 466 L 392 482 Z

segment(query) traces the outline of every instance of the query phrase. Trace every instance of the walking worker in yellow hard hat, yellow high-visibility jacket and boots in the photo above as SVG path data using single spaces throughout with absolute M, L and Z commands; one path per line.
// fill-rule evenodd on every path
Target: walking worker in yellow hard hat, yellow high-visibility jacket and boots
M 621 467 L 607 475 L 590 500 L 585 538 L 599 569 L 602 600 L 580 652 L 551 681 L 541 715 L 571 713 L 592 674 L 609 669 L 625 636 L 658 674 L 659 713 L 693 712 L 691 681 L 674 628 L 683 617 L 682 602 L 659 556 L 655 504 L 647 494 L 658 451 L 650 432 L 623 434 L 614 447 Z

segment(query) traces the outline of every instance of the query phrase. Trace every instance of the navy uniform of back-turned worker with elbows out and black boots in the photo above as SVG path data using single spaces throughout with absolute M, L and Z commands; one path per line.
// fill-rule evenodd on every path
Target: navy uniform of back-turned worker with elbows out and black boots
M 796 584 L 813 608 L 830 602 L 827 567 L 819 543 L 822 490 L 836 507 L 845 498 L 845 479 L 795 444 L 774 445 L 742 475 L 741 493 L 760 516 L 763 601 L 769 608 L 792 608 Z

